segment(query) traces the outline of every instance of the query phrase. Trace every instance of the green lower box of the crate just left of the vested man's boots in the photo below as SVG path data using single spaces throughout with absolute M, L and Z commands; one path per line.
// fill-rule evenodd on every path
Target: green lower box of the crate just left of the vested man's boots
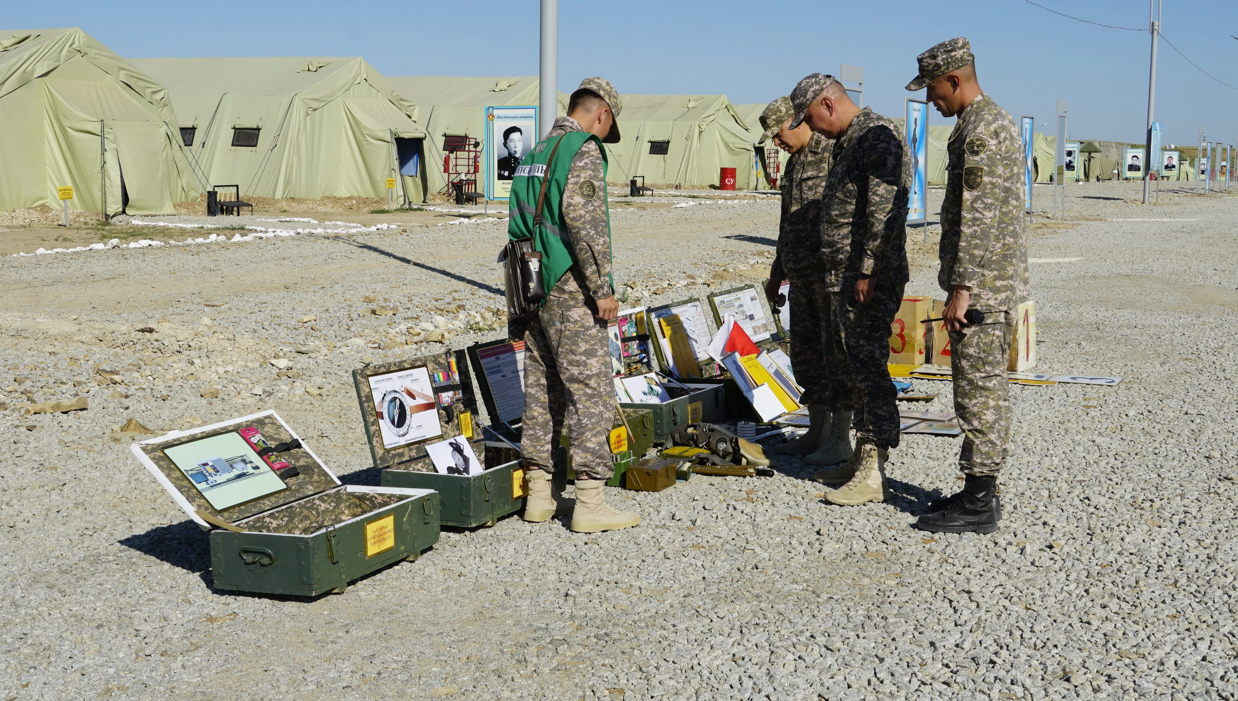
M 488 469 L 469 477 L 401 469 L 383 471 L 383 487 L 433 489 L 439 493 L 439 521 L 443 525 L 473 528 L 490 524 L 525 505 L 524 497 L 513 498 L 513 472 L 520 462 Z

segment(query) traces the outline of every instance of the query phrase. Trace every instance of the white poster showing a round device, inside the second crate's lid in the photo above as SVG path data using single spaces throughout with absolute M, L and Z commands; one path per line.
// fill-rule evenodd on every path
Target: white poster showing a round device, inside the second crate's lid
M 370 375 L 368 381 L 379 414 L 383 450 L 390 451 L 443 435 L 435 388 L 425 365 Z

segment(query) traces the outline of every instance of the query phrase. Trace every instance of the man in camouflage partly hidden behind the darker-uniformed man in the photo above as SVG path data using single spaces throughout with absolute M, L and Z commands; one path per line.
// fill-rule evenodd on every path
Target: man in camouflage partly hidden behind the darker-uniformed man
M 800 403 L 808 407 L 810 420 L 803 436 L 774 451 L 808 456 L 808 464 L 831 464 L 851 457 L 852 421 L 851 407 L 834 404 L 847 394 L 846 388 L 832 386 L 844 383 L 838 372 L 842 343 L 829 323 L 829 291 L 821 280 L 821 192 L 834 142 L 807 124 L 787 129 L 794 115 L 791 98 L 771 102 L 761 113 L 765 131 L 758 141 L 774 139 L 779 149 L 791 154 L 780 183 L 782 217 L 765 296 L 776 303 L 782 281 L 791 282 L 791 298 L 786 300 L 791 305 L 791 367 L 803 388 Z

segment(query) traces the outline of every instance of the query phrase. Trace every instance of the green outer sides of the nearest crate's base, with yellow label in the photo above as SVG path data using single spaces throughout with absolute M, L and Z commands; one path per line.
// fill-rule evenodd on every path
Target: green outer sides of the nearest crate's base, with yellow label
M 347 587 L 375 570 L 416 559 L 438 542 L 438 494 L 426 494 L 311 535 L 210 531 L 213 585 L 217 590 L 292 596 Z M 395 514 L 395 547 L 366 557 L 365 524 L 389 513 Z

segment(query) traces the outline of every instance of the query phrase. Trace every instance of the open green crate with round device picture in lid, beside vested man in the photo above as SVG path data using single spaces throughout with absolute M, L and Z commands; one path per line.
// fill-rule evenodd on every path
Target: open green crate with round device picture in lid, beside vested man
M 420 368 L 425 368 L 430 388 L 418 389 L 416 383 L 426 381 L 418 374 Z M 361 409 L 370 456 L 374 466 L 381 471 L 380 481 L 384 487 L 438 492 L 441 523 L 459 528 L 491 526 L 498 519 L 519 512 L 525 505 L 524 471 L 520 469 L 519 456 L 498 463 L 496 457 L 509 456 L 503 451 L 490 450 L 493 446 L 482 440 L 480 427 L 474 422 L 477 404 L 463 350 L 358 368 L 353 370 L 353 385 Z M 392 419 L 409 422 L 407 435 L 412 435 L 415 425 L 415 415 L 401 415 L 400 406 L 395 406 L 395 412 L 387 410 L 386 403 L 391 401 L 387 396 L 394 391 L 390 388 L 396 385 L 401 385 L 401 389 L 394 399 L 404 403 L 409 411 L 433 403 L 438 430 L 433 432 L 431 427 L 425 432 L 435 435 L 411 442 L 392 435 Z M 406 400 L 402 395 L 413 399 Z M 422 395 L 430 399 L 422 398 L 422 405 L 413 404 Z M 379 410 L 379 403 L 383 403 L 383 411 Z M 474 457 L 482 461 L 482 473 L 443 474 L 435 468 L 426 446 L 457 436 L 468 438 Z

